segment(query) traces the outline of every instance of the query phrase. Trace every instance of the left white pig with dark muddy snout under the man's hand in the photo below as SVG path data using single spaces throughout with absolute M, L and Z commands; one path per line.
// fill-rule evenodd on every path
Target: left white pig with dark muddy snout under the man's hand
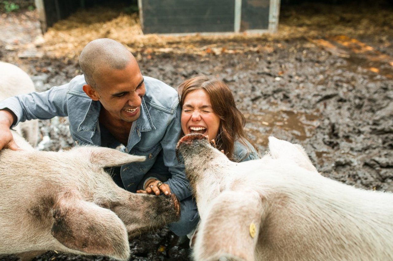
M 14 138 L 25 150 L 0 151 L 0 256 L 57 250 L 127 260 L 129 237 L 178 220 L 176 196 L 130 193 L 103 169 L 144 157 L 94 146 L 36 151 Z

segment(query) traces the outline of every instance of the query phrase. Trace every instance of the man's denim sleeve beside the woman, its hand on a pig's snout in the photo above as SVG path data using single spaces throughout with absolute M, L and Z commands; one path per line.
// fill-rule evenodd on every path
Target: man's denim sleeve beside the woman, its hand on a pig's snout
M 184 164 L 180 163 L 176 157 L 176 144 L 180 136 L 180 107 L 176 108 L 176 113 L 173 115 L 169 123 L 165 136 L 161 141 L 163 149 L 164 164 L 169 168 L 171 178 L 165 183 L 171 188 L 171 192 L 176 194 L 180 200 L 191 196 L 189 181 L 185 177 Z

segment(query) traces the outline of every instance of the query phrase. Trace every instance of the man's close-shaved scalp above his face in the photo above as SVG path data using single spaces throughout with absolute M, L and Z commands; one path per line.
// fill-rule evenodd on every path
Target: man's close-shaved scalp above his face
M 101 38 L 91 41 L 83 48 L 79 56 L 79 65 L 86 83 L 96 88 L 95 80 L 101 77 L 101 68 L 122 70 L 131 60 L 135 58 L 123 44 Z

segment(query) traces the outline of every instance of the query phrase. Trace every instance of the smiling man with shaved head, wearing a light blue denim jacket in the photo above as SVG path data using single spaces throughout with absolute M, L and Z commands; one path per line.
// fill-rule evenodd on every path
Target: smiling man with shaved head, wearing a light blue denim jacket
M 175 153 L 181 131 L 177 92 L 142 76 L 134 56 L 111 39 L 88 43 L 79 64 L 83 75 L 65 85 L 0 103 L 0 149 L 18 149 L 9 129 L 20 121 L 68 116 L 75 144 L 120 147 L 146 156 L 144 162 L 112 170 L 114 181 L 130 192 L 176 194 L 181 217 L 169 228 L 178 236 L 188 234 L 198 213 Z

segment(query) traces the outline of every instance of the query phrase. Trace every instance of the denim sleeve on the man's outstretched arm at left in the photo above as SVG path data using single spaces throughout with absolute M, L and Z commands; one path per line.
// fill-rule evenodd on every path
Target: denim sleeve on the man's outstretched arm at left
M 68 83 L 52 87 L 45 92 L 31 92 L 7 98 L 0 102 L 0 109 L 8 108 L 17 116 L 14 127 L 21 121 L 46 120 L 54 116 L 67 116 Z

